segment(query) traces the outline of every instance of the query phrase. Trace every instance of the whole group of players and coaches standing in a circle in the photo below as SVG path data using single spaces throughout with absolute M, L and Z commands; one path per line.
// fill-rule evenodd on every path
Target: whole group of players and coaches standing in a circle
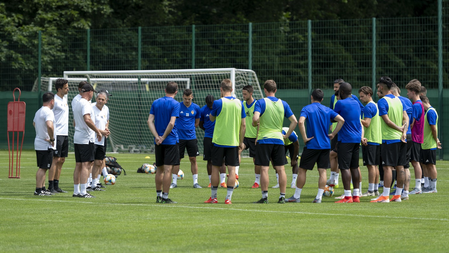
M 36 113 L 35 149 L 37 165 L 35 195 L 65 192 L 59 188 L 59 175 L 68 153 L 68 105 L 64 95 L 67 80 L 56 81 L 57 95 L 43 95 L 43 107 Z M 177 187 L 177 173 L 185 150 L 189 156 L 193 187 L 198 184 L 199 155 L 196 127 L 204 131 L 203 160 L 211 195 L 204 203 L 218 203 L 218 187 L 227 188 L 225 204 L 231 204 L 243 150 L 249 149 L 253 158 L 255 181 L 252 188 L 261 188 L 261 198 L 254 203 L 269 203 L 269 165 L 276 171 L 279 188 L 278 203 L 300 202 L 306 182 L 306 172 L 315 165 L 319 173 L 317 196 L 313 203 L 321 203 L 325 189 L 339 187 L 339 174 L 344 194 L 336 203 L 360 202 L 360 197 L 373 196 L 371 202 L 401 202 L 409 194 L 436 193 L 436 149 L 441 148 L 437 137 L 438 114 L 426 97 L 426 89 L 418 80 L 407 86 L 408 99 L 389 77 L 381 77 L 377 85 L 377 104 L 373 90 L 363 86 L 359 98 L 352 95 L 352 86 L 342 79 L 334 82 L 335 95 L 330 107 L 321 104 L 324 93 L 313 90 L 311 104 L 304 106 L 299 119 L 290 106 L 276 98 L 275 81 L 264 83 L 265 98 L 255 100 L 253 87 L 244 86 L 243 101 L 233 96 L 233 84 L 224 79 L 220 84 L 220 99 L 205 98 L 200 108 L 192 102 L 193 91 L 185 89 L 182 102 L 174 98 L 178 93 L 176 82 L 169 82 L 166 95 L 154 100 L 148 117 L 148 127 L 154 137 L 156 203 L 176 203 L 168 198 L 169 190 Z M 93 92 L 88 82 L 79 83 L 79 95 L 72 100 L 74 113 L 75 160 L 73 197 L 92 198 L 89 191 L 101 191 L 101 174 L 107 176 L 105 138 L 109 136 L 109 109 L 105 105 L 110 94 L 99 90 L 97 102 L 90 104 Z M 365 106 L 363 104 L 365 104 Z M 289 127 L 282 127 L 284 117 Z M 299 133 L 304 149 L 299 159 Z M 368 190 L 361 191 L 359 150 L 362 147 L 363 165 L 368 169 Z M 286 154 L 290 153 L 292 167 L 291 188 L 295 194 L 286 198 Z M 93 163 L 92 163 L 93 162 Z M 415 186 L 409 191 L 414 167 Z M 226 181 L 226 168 L 228 178 Z M 330 168 L 330 178 L 326 170 Z M 48 173 L 48 189 L 45 173 Z M 92 179 L 93 175 L 93 179 Z M 97 176 L 98 175 L 98 176 Z M 396 190 L 393 184 L 396 181 Z M 422 187 L 422 182 L 424 185 Z M 383 193 L 379 194 L 379 187 Z M 351 191 L 353 189 L 353 191 Z M 390 193 L 391 191 L 391 193 Z M 390 195 L 392 198 L 390 199 Z

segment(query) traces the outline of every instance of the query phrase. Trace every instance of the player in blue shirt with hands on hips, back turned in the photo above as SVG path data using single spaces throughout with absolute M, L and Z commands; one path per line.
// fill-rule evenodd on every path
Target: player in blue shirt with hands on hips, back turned
M 321 203 L 321 197 L 326 185 L 326 169 L 329 168 L 330 140 L 343 126 L 344 119 L 330 108 L 321 104 L 324 93 L 320 89 L 313 90 L 310 99 L 312 104 L 304 106 L 299 117 L 299 131 L 304 140 L 304 149 L 299 162 L 298 179 L 296 182 L 295 194 L 286 202 L 299 202 L 301 192 L 306 182 L 306 172 L 313 170 L 315 164 L 320 175 L 318 180 L 318 194 L 313 203 Z M 328 133 L 330 122 L 338 122 L 334 131 Z M 304 124 L 304 122 L 306 124 Z M 307 131 L 305 128 L 307 125 Z

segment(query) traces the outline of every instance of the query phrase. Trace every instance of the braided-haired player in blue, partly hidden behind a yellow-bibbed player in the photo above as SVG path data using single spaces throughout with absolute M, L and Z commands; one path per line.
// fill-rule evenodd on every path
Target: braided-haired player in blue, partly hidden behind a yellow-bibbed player
M 212 105 L 214 104 L 214 96 L 208 94 L 206 96 L 206 105 L 201 108 L 201 117 L 199 118 L 199 128 L 204 130 L 203 140 L 203 155 L 202 159 L 207 161 L 207 175 L 209 176 L 209 186 L 211 187 L 211 173 L 212 173 L 212 137 L 214 135 L 215 121 L 211 121 L 209 114 L 212 111 Z M 220 168 L 220 186 L 227 187 L 225 183 L 226 179 L 226 167 L 225 163 Z

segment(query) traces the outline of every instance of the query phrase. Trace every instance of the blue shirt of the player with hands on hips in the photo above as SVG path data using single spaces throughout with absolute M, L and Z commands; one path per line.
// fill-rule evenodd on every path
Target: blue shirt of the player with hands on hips
M 312 103 L 303 107 L 301 116 L 306 118 L 306 134 L 312 137 L 306 144 L 307 149 L 330 149 L 330 139 L 327 136 L 330 120 L 338 113 L 320 103 Z M 345 122 L 346 123 L 346 122 Z

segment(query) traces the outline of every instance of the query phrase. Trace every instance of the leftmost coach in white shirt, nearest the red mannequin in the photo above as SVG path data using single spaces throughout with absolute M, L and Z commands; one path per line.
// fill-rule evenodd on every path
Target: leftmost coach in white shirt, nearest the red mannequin
M 44 103 L 36 112 L 33 120 L 33 126 L 36 129 L 34 149 L 36 150 L 37 167 L 39 167 L 36 173 L 36 190 L 34 192 L 36 196 L 53 195 L 45 190 L 44 181 L 45 173 L 52 166 L 56 141 L 55 117 L 52 111 L 55 103 L 54 97 L 52 92 L 47 92 L 42 96 Z

